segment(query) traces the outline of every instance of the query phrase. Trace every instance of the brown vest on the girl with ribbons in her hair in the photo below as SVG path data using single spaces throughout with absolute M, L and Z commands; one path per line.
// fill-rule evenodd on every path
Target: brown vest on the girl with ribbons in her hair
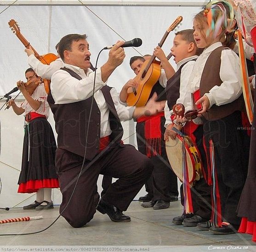
M 229 49 L 226 47 L 218 47 L 213 50 L 206 60 L 204 71 L 202 73 L 200 82 L 200 96 L 202 97 L 205 93 L 209 93 L 210 89 L 214 86 L 220 86 L 222 84 L 221 77 L 219 75 L 221 68 L 221 55 L 222 50 Z M 217 106 L 214 104 L 206 113 L 205 119 L 208 121 L 219 120 L 228 115 L 231 115 L 234 111 L 244 111 L 244 98 L 243 94 L 231 103 Z

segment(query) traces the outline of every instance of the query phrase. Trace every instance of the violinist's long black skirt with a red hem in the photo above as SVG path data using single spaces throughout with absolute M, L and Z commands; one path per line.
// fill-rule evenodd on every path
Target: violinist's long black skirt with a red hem
M 18 192 L 32 193 L 40 188 L 58 188 L 55 170 L 56 142 L 45 117 L 36 117 L 25 128 L 22 167 Z

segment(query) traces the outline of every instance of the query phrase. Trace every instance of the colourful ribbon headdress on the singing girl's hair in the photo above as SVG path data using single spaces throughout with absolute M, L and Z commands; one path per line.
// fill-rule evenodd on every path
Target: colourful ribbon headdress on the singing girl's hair
M 227 9 L 229 10 L 229 16 L 227 15 L 227 9 L 225 6 L 228 7 Z M 216 15 L 217 10 L 220 10 L 222 14 L 219 15 L 216 19 L 214 16 Z M 204 15 L 207 18 L 209 27 L 206 31 L 206 36 L 209 36 L 210 32 L 213 32 L 213 36 L 216 38 L 217 33 L 222 25 L 225 27 L 225 31 L 223 31 L 224 33 L 232 31 L 234 10 L 229 2 L 222 0 L 211 1 L 205 6 Z

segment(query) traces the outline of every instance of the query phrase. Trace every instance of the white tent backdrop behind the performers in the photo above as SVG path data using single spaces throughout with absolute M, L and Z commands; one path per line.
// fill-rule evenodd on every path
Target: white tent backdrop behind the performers
M 0 1 L 0 12 L 6 9 L 7 3 L 13 2 L 14 0 Z M 32 5 L 29 5 L 29 2 Z M 70 5 L 64 5 L 64 2 L 68 2 Z M 123 64 L 114 71 L 108 80 L 109 86 L 113 86 L 120 91 L 125 82 L 134 77 L 134 73 L 129 66 L 131 56 L 139 55 L 139 53 L 141 55 L 152 54 L 154 47 L 162 38 L 165 30 L 176 19 L 176 16 L 183 16 L 182 26 L 179 30 L 191 28 L 193 16 L 201 10 L 200 2 L 205 3 L 204 0 L 143 2 L 106 0 L 106 5 L 97 5 L 97 1 L 86 1 L 89 4 L 92 2 L 95 6 L 86 7 L 85 5 L 81 5 L 79 1 L 77 3 L 74 0 L 19 0 L 16 4 L 26 5 L 13 5 L 0 14 L 0 33 L 2 34 L 2 49 L 0 51 L 0 96 L 3 96 L 14 88 L 18 80 L 25 80 L 24 71 L 29 67 L 23 44 L 11 32 L 8 26 L 10 19 L 15 19 L 18 22 L 21 33 L 39 54 L 45 54 L 47 52 L 55 53 L 55 45 L 60 38 L 68 33 L 86 33 L 88 35 L 87 40 L 90 44 L 91 62 L 94 66 L 97 54 L 103 47 L 114 44 L 122 38 L 125 40 L 141 38 L 143 43 L 141 47 L 137 48 L 138 52 L 132 48 L 126 48 L 126 58 Z M 98 3 L 102 2 L 98 1 Z M 120 2 L 125 6 L 119 5 Z M 179 2 L 186 4 L 184 6 L 176 6 Z M 60 3 L 63 5 L 42 5 L 50 3 Z M 128 5 L 129 3 L 130 5 Z M 139 4 L 142 5 L 142 3 L 147 6 L 136 6 Z M 150 3 L 152 5 L 154 4 L 154 6 L 148 6 Z M 156 5 L 157 3 L 163 6 L 158 6 Z M 188 6 L 188 3 L 190 6 Z M 76 4 L 80 4 L 80 6 Z M 170 52 L 173 38 L 174 32 L 165 41 L 163 49 L 166 55 Z M 100 56 L 98 66 L 101 66 L 107 58 L 108 51 L 105 50 Z M 175 66 L 172 60 L 171 64 Z M 2 104 L 0 103 L 0 105 Z M 15 115 L 11 109 L 1 110 L 0 122 L 0 178 L 2 181 L 0 207 L 10 207 L 31 196 L 28 194 L 17 194 L 18 170 L 20 170 L 22 155 L 23 116 Z M 54 128 L 52 115 L 50 116 L 50 122 Z M 136 145 L 134 127 L 133 121 L 124 124 L 124 138 L 128 137 L 125 140 L 126 143 L 129 142 Z M 131 135 L 132 137 L 129 137 Z M 99 181 L 99 191 L 101 191 L 100 185 L 101 182 Z M 140 195 L 143 193 L 144 191 L 141 191 Z M 29 199 L 26 203 L 31 201 L 32 199 Z M 61 196 L 59 190 L 56 189 L 54 192 L 54 203 L 60 202 Z M 20 205 L 23 204 L 25 203 Z

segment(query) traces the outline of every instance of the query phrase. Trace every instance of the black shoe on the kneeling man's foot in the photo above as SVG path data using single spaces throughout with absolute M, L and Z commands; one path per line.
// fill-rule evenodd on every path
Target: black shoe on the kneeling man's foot
M 118 208 L 108 203 L 105 203 L 102 200 L 100 200 L 96 209 L 102 214 L 108 214 L 108 217 L 114 222 L 131 221 L 131 218 L 123 214 L 123 212 L 120 211 Z

